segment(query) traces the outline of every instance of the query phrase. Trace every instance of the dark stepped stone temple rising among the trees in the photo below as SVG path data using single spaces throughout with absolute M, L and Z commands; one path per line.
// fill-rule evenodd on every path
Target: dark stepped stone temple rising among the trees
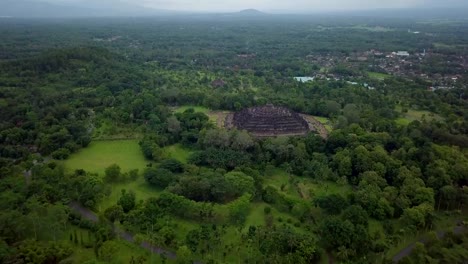
M 257 137 L 300 136 L 314 130 L 303 116 L 271 104 L 246 108 L 226 117 L 227 128 L 247 130 Z

